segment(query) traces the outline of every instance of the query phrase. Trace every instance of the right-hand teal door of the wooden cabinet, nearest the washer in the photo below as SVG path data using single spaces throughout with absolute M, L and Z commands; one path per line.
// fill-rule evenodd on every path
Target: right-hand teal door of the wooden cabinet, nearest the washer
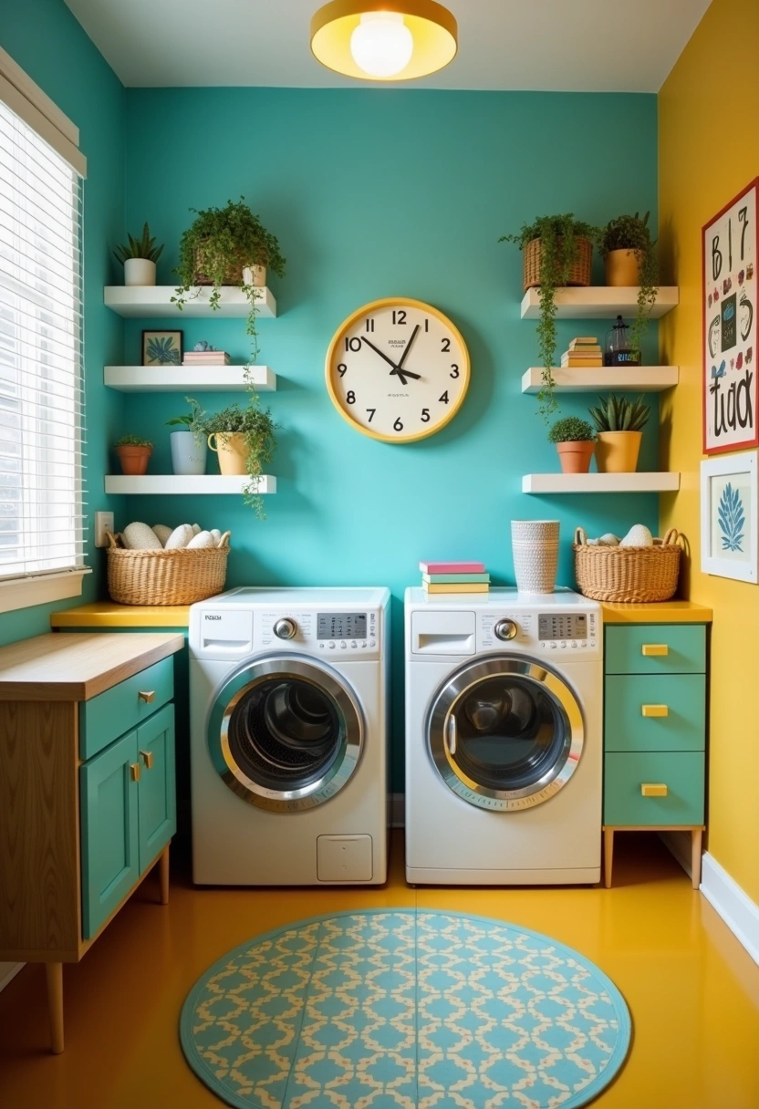
M 140 874 L 148 869 L 176 831 L 174 706 L 168 704 L 138 728 L 140 760 Z

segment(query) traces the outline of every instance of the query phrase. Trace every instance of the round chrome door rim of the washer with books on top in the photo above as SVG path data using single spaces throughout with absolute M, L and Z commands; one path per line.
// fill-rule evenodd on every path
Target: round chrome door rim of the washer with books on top
M 445 735 L 454 709 L 474 685 L 488 678 L 507 674 L 526 678 L 550 694 L 564 723 L 565 743 L 561 756 L 533 785 L 518 790 L 493 790 L 464 773 L 451 754 Z M 433 696 L 425 736 L 435 769 L 448 788 L 472 805 L 496 811 L 532 808 L 548 801 L 564 788 L 577 770 L 585 744 L 583 712 L 564 679 L 534 659 L 508 655 L 478 659 L 446 679 Z

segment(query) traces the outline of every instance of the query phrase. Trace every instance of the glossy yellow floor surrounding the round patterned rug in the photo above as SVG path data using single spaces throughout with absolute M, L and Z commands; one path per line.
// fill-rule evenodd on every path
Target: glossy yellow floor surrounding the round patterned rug
M 403 842 L 382 888 L 194 889 L 174 866 L 169 906 L 152 877 L 79 966 L 67 967 L 65 1052 L 47 1054 L 44 976 L 0 994 L 2 1109 L 221 1109 L 185 1066 L 176 1027 L 194 979 L 279 924 L 333 908 L 435 906 L 548 933 L 625 995 L 634 1042 L 603 1109 L 759 1109 L 759 967 L 654 837 L 623 836 L 615 887 L 408 888 Z

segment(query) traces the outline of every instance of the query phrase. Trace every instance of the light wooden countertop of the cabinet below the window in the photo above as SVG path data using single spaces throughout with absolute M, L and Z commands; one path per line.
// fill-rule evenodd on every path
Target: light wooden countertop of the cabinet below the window
M 36 635 L 0 648 L 0 701 L 89 701 L 183 647 L 178 632 Z

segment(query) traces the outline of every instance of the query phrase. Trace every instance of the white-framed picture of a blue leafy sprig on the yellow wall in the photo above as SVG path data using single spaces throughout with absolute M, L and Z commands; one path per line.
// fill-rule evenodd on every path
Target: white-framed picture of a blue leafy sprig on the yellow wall
M 757 455 L 701 462 L 701 570 L 757 583 Z

